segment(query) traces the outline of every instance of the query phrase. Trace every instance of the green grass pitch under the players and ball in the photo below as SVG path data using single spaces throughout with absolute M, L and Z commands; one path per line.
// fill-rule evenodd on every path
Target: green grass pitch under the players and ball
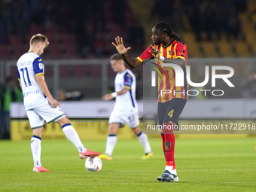
M 154 157 L 141 160 L 137 139 L 119 140 L 113 160 L 87 172 L 68 140 L 43 140 L 41 162 L 51 172 L 32 172 L 30 142 L 0 141 L 0 191 L 255 191 L 256 139 L 176 139 L 179 182 L 163 183 L 160 139 L 149 139 Z M 105 151 L 105 141 L 83 141 Z

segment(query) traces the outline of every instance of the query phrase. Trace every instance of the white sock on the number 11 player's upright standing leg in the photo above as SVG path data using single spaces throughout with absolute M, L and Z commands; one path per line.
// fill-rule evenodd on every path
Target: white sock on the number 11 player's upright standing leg
M 33 135 L 31 138 L 31 151 L 34 160 L 34 166 L 41 166 L 41 137 Z

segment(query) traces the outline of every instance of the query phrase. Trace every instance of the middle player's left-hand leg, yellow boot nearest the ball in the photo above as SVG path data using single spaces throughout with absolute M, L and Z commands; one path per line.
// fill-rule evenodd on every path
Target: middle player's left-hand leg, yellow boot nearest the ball
M 117 130 L 120 127 L 120 123 L 110 123 L 108 126 L 108 138 L 106 142 L 105 153 L 99 155 L 102 160 L 112 160 L 112 153 L 114 146 L 117 143 Z

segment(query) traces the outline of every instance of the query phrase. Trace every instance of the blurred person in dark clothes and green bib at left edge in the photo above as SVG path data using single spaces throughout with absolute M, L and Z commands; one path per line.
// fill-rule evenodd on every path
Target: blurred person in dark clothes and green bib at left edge
M 11 102 L 22 102 L 23 93 L 11 77 L 6 78 L 5 84 L 0 89 L 0 139 L 10 139 L 10 104 Z

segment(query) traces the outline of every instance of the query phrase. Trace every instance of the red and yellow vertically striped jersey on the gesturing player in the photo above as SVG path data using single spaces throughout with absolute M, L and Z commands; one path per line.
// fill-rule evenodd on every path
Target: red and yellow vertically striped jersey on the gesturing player
M 181 98 L 187 100 L 187 44 L 183 41 L 172 40 L 166 46 L 163 44 L 154 45 L 159 51 L 160 56 L 164 56 L 169 59 L 184 59 L 185 64 L 181 66 L 184 72 L 184 87 L 175 86 L 175 70 L 172 67 L 162 67 L 166 75 L 163 78 L 158 75 L 158 102 L 169 102 L 171 99 Z M 149 52 L 151 50 L 149 46 L 141 56 L 138 56 L 140 62 L 146 59 L 154 58 Z M 156 63 L 161 67 L 162 63 L 159 59 L 155 59 Z M 165 91 L 163 91 L 165 90 Z

